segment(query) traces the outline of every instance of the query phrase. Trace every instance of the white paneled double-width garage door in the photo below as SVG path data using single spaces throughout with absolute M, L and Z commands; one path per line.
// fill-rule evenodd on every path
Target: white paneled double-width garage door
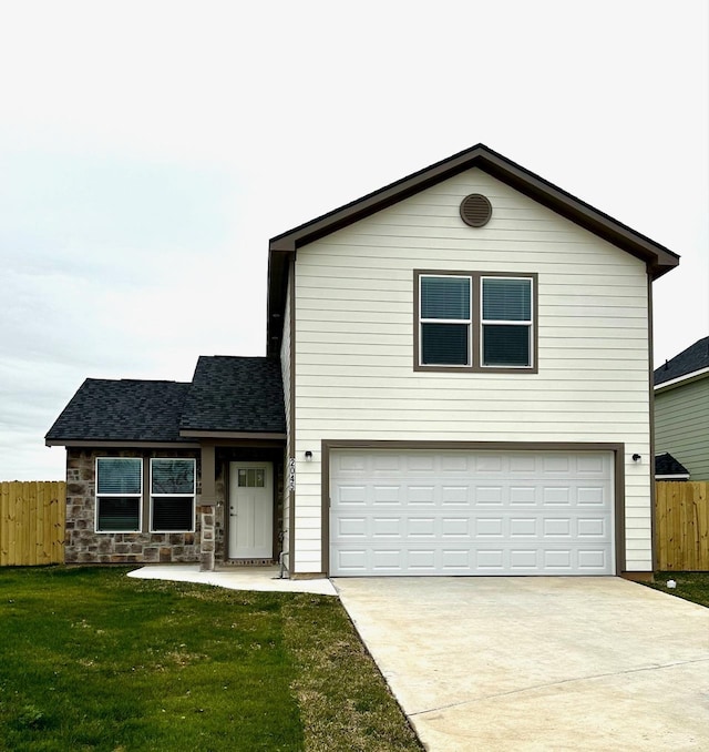
M 613 575 L 610 453 L 333 450 L 330 575 Z

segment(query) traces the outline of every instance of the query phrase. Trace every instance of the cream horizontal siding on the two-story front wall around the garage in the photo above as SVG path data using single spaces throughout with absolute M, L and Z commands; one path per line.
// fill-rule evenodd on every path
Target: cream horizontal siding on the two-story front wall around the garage
M 459 205 L 477 192 L 493 219 L 475 230 Z M 474 169 L 300 248 L 296 266 L 296 571 L 326 566 L 322 439 L 625 443 L 627 568 L 651 568 L 640 261 Z M 537 273 L 538 374 L 414 372 L 413 270 Z

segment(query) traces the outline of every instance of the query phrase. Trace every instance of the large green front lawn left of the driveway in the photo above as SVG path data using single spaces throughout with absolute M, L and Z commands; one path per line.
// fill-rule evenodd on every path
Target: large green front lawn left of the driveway
M 0 570 L 0 750 L 421 750 L 335 598 Z

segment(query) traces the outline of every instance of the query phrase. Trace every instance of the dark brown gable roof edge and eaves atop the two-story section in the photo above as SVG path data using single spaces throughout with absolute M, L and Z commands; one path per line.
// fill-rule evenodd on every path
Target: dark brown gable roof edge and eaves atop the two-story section
M 484 144 L 476 144 L 441 162 L 386 185 L 361 199 L 289 230 L 269 243 L 267 352 L 276 354 L 282 326 L 288 264 L 295 252 L 403 199 L 415 195 L 465 170 L 477 167 L 567 220 L 640 258 L 656 280 L 679 263 L 679 256 L 659 243 L 594 209 Z

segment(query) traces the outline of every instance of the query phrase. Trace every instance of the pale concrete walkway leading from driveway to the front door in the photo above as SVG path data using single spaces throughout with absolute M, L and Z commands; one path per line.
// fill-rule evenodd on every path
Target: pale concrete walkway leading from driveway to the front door
M 129 572 L 129 577 L 143 580 L 197 582 L 229 588 L 230 590 L 312 592 L 321 596 L 337 596 L 330 580 L 288 580 L 280 579 L 278 573 L 278 567 L 234 567 L 233 569 L 203 572 L 199 571 L 199 565 L 155 565 Z

